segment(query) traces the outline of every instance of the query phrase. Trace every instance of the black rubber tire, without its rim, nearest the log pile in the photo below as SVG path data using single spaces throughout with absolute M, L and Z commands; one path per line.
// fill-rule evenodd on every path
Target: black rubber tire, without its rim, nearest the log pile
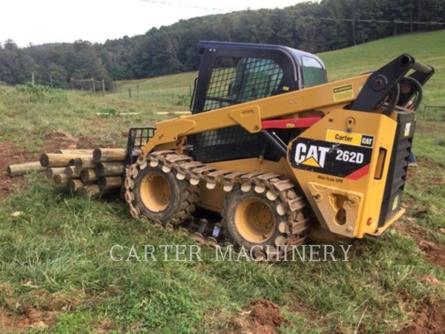
M 164 210 L 159 212 L 154 212 L 147 208 L 140 195 L 142 180 L 151 172 L 162 174 L 170 187 L 170 203 Z M 193 186 L 191 186 L 190 183 L 185 180 L 178 180 L 175 174 L 176 173 L 173 169 L 168 173 L 163 172 L 161 166 L 147 166 L 145 169 L 139 170 L 138 175 L 134 179 L 133 194 L 134 204 L 139 208 L 142 215 L 146 216 L 150 220 L 159 220 L 162 223 L 168 223 L 175 219 L 185 219 L 186 217 L 184 216 L 193 211 L 190 210 L 190 206 L 194 203 L 189 202 L 191 195 L 189 187 Z

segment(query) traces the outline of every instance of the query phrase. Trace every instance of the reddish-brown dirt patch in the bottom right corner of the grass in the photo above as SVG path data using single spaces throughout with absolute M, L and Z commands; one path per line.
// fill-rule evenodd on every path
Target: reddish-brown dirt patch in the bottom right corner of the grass
M 397 333 L 440 334 L 445 329 L 445 301 L 419 301 L 412 311 L 412 322 Z

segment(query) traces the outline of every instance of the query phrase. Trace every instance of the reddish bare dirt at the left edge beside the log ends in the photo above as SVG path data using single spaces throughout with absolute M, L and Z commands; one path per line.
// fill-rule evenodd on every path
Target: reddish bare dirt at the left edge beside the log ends
M 34 161 L 25 149 L 13 149 L 10 143 L 0 143 L 0 199 L 8 195 L 15 184 L 21 184 L 22 178 L 10 178 L 7 173 L 9 165 Z

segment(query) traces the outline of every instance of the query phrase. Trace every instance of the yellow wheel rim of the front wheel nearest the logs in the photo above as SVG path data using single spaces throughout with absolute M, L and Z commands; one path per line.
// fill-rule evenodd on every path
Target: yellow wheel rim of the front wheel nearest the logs
M 170 203 L 170 186 L 161 173 L 151 172 L 142 179 L 140 194 L 142 203 L 152 212 L 160 212 Z

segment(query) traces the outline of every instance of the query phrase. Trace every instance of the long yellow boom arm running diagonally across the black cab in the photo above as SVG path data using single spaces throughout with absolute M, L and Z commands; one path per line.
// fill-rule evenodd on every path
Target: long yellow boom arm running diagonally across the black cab
M 156 134 L 142 148 L 144 154 L 159 144 L 171 143 L 179 137 L 207 130 L 241 125 L 251 133 L 262 130 L 261 120 L 321 110 L 327 114 L 354 101 L 369 74 L 360 75 L 320 86 L 295 90 L 290 93 L 262 98 L 234 106 L 210 110 L 182 118 L 156 123 Z M 342 88 L 349 88 L 341 91 Z M 336 93 L 340 89 L 340 94 Z M 341 93 L 343 92 L 343 95 Z

